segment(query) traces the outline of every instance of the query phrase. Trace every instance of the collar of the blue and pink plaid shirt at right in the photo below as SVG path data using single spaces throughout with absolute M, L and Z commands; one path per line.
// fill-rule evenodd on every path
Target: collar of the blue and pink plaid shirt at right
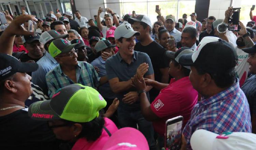
M 229 98 L 230 95 L 234 95 L 234 94 L 238 93 L 239 89 L 240 89 L 239 80 L 237 79 L 236 83 L 234 83 L 231 87 L 227 88 L 226 90 L 221 91 L 207 99 L 202 97 L 202 100 L 199 102 L 199 104 L 209 105 L 209 104 L 215 103 L 220 100 L 230 99 Z

